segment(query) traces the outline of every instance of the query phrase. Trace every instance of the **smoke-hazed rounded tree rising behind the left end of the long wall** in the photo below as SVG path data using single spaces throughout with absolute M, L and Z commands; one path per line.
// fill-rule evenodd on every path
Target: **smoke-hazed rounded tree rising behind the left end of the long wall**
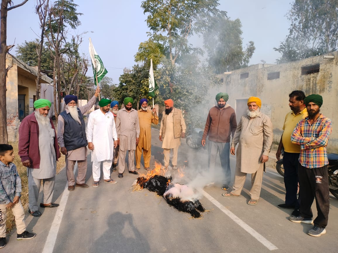
M 217 74 L 246 67 L 255 51 L 253 41 L 246 49 L 242 46 L 242 24 L 239 19 L 213 17 L 203 34 L 204 48 L 208 62 Z

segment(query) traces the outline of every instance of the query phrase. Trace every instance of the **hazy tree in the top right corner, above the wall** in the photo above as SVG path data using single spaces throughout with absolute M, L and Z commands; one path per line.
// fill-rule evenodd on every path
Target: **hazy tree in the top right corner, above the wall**
M 338 48 L 338 0 L 295 0 L 287 14 L 289 34 L 278 48 L 277 63 L 295 61 Z

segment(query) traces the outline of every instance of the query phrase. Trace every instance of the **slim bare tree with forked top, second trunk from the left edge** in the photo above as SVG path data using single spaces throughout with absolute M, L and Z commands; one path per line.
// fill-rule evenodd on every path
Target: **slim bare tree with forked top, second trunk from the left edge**
M 37 76 L 37 95 L 36 95 L 37 99 L 40 98 L 41 55 L 42 55 L 43 42 L 44 42 L 44 37 L 45 37 L 48 4 L 49 4 L 49 0 L 37 0 L 37 5 L 35 6 L 35 12 L 39 16 L 40 27 L 41 27 L 40 44 L 39 44 L 39 47 L 37 48 L 37 54 L 38 54 L 38 76 Z

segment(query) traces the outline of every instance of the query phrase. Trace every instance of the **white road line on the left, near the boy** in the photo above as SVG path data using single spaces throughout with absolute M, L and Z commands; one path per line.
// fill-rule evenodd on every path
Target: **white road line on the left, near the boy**
M 76 170 L 77 170 L 77 163 L 74 166 L 74 174 L 76 173 Z M 65 207 L 66 207 L 66 204 L 67 204 L 68 196 L 69 196 L 69 191 L 68 191 L 68 182 L 67 182 L 65 190 L 62 193 L 60 204 L 57 207 L 56 214 L 55 214 L 52 226 L 50 227 L 50 230 L 49 230 L 49 233 L 48 233 L 48 236 L 47 236 L 47 240 L 46 240 L 46 243 L 45 243 L 45 247 L 43 248 L 42 253 L 52 253 L 53 252 L 57 233 L 59 231 L 61 221 L 62 221 L 62 217 L 63 217 Z

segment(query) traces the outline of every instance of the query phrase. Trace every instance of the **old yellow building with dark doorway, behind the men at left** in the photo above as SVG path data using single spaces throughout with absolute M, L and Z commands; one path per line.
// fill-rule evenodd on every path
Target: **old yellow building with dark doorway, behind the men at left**
M 20 121 L 33 112 L 38 72 L 13 55 L 7 54 L 6 67 L 12 66 L 6 79 L 6 109 L 8 141 L 18 140 Z M 53 80 L 45 74 L 41 76 L 40 98 L 52 102 L 54 110 Z M 50 112 L 50 115 L 51 115 Z

